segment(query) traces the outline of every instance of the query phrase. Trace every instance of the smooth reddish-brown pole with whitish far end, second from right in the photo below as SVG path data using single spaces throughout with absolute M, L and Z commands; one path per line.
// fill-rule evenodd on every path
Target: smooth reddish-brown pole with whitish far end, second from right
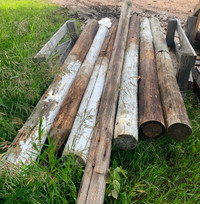
M 153 39 L 148 18 L 140 26 L 139 75 L 139 132 L 142 136 L 156 138 L 165 131 Z

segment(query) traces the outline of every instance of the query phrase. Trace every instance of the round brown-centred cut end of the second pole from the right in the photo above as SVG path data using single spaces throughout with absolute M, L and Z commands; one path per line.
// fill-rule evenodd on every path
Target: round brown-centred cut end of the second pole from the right
M 158 138 L 165 132 L 165 127 L 158 121 L 148 121 L 140 126 L 140 134 L 146 138 Z

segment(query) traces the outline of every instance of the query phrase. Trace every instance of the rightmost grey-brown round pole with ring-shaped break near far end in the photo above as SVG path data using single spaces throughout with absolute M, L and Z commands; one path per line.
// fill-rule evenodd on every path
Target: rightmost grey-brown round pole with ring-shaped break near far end
M 174 75 L 172 60 L 160 23 L 157 18 L 151 18 L 150 23 L 156 50 L 161 102 L 168 135 L 176 140 L 183 140 L 192 133 L 190 121 Z

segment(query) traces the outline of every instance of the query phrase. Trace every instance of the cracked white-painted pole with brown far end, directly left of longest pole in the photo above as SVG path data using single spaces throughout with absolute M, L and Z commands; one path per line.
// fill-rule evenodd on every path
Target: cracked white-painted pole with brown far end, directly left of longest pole
M 101 48 L 90 82 L 75 118 L 72 131 L 63 151 L 63 159 L 65 155 L 73 152 L 79 163 L 86 164 L 116 31 L 117 24 L 115 23 L 111 27 L 109 35 Z

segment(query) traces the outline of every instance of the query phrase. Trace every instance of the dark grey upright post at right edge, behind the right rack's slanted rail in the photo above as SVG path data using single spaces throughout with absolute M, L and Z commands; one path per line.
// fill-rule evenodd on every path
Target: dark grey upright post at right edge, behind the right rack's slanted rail
M 192 36 L 194 34 L 196 23 L 197 23 L 196 16 L 188 16 L 185 34 L 190 42 L 192 42 Z

